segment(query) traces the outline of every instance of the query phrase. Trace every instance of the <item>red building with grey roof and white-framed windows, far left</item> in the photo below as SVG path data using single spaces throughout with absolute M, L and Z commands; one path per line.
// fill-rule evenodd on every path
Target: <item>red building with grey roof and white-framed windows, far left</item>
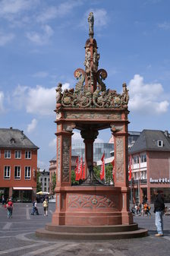
M 0 191 L 6 199 L 36 198 L 38 149 L 23 131 L 0 128 Z

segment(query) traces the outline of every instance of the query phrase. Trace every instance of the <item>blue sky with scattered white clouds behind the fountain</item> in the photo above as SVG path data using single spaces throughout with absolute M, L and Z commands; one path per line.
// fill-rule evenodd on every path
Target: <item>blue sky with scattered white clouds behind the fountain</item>
M 0 0 L 0 127 L 18 128 L 38 146 L 38 164 L 55 156 L 55 87 L 74 87 L 84 68 L 87 17 L 107 88 L 130 93 L 130 131 L 169 129 L 168 0 Z M 109 130 L 97 141 L 109 141 Z M 79 140 L 75 131 L 73 140 Z

